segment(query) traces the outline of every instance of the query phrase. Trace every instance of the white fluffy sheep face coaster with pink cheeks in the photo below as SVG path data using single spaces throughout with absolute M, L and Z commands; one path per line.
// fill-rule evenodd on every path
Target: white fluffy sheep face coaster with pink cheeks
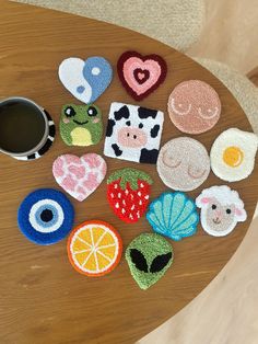
M 228 234 L 237 222 L 244 222 L 247 218 L 238 193 L 226 185 L 203 190 L 196 204 L 201 209 L 202 228 L 214 237 Z

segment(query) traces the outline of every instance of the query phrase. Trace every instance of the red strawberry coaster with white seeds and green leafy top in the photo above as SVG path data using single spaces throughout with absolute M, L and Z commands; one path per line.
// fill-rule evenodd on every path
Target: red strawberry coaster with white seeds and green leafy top
M 136 169 L 113 173 L 107 180 L 107 199 L 117 217 L 137 222 L 146 210 L 152 183 L 149 174 Z

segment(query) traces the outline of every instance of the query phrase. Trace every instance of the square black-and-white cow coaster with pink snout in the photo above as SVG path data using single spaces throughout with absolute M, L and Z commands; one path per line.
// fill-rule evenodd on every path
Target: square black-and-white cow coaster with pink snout
M 161 111 L 112 103 L 104 154 L 142 163 L 156 163 L 164 115 Z

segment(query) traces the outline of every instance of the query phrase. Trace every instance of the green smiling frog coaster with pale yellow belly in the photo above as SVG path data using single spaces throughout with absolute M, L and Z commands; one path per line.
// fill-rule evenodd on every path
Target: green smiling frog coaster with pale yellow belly
M 101 141 L 102 134 L 102 113 L 96 105 L 62 106 L 60 135 L 68 146 L 96 145 Z

